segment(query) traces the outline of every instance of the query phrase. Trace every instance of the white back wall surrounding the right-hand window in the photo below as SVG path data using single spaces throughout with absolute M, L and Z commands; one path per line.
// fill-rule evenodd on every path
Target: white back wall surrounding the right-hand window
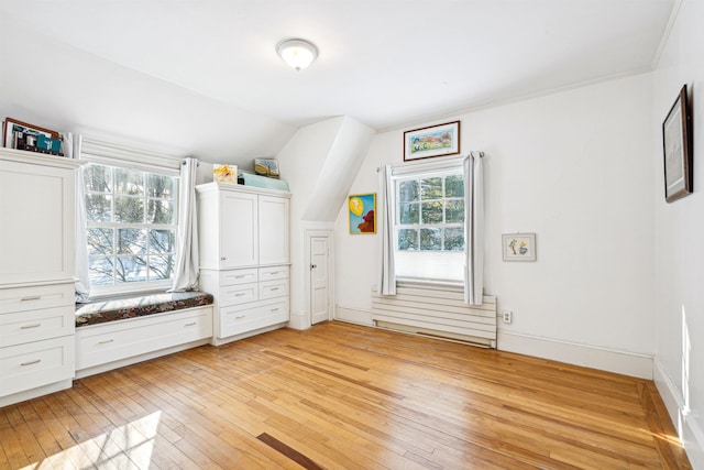
M 651 376 L 651 116 L 644 74 L 444 120 L 461 120 L 463 154 L 486 153 L 485 292 L 514 311 L 501 349 Z M 375 168 L 402 161 L 403 131 L 378 134 L 351 192 L 377 192 Z M 517 231 L 537 233 L 537 262 L 502 261 Z M 370 321 L 378 238 L 349 236 L 340 211 L 340 318 Z

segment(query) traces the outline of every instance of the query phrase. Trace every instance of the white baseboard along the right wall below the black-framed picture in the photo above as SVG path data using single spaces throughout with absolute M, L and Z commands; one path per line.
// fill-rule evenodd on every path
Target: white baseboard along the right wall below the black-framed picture
M 690 417 L 681 391 L 674 385 L 662 363 L 657 359 L 654 360 L 653 374 L 658 392 L 668 408 L 670 419 L 680 436 L 692 468 L 704 469 L 704 431 L 696 420 Z

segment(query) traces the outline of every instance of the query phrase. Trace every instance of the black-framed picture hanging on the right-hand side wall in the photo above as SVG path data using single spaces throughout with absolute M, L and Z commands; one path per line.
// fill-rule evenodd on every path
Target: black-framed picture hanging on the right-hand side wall
M 686 85 L 662 122 L 664 200 L 672 203 L 693 190 L 692 117 Z

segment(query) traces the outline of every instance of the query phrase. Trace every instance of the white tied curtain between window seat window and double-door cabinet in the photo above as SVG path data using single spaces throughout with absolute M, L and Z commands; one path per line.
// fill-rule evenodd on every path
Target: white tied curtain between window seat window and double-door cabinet
M 198 287 L 198 223 L 196 214 L 196 172 L 198 160 L 185 159 L 180 166 L 178 194 L 178 236 L 174 284 L 169 292 Z

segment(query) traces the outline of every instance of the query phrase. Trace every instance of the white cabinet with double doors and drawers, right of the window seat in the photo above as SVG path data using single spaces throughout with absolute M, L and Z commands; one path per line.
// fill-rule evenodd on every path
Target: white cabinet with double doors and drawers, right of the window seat
M 196 190 L 200 289 L 215 296 L 212 342 L 286 325 L 290 194 L 218 183 Z

